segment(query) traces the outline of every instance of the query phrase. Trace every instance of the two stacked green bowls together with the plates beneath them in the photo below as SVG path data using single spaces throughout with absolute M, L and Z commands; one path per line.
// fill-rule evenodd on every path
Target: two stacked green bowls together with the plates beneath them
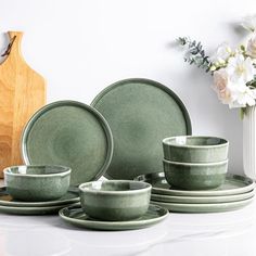
M 171 212 L 216 213 L 241 208 L 254 197 L 252 179 L 228 175 L 226 139 L 182 136 L 163 140 L 164 172 L 137 177 L 152 184 L 151 202 Z

